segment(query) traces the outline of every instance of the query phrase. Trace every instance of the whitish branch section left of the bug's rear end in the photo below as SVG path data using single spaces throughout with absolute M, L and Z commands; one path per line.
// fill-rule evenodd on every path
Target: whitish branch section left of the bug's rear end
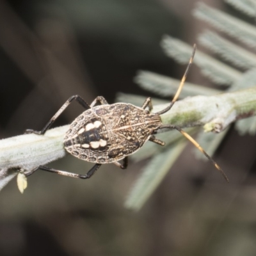
M 44 136 L 23 134 L 0 140 L 0 190 L 20 170 L 32 170 L 65 156 L 63 138 L 67 129 L 65 125 Z

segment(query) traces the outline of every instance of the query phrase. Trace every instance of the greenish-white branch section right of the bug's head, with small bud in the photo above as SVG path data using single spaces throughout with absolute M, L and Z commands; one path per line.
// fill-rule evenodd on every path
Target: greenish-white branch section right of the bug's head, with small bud
M 230 123 L 256 114 L 256 87 L 214 96 L 195 96 L 175 103 L 163 124 L 204 125 L 206 132 L 223 131 Z M 163 108 L 163 107 L 162 107 Z M 158 111 L 159 106 L 156 107 Z

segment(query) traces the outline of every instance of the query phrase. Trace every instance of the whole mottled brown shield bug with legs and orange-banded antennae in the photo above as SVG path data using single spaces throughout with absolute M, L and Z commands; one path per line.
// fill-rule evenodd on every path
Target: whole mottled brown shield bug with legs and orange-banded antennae
M 139 108 L 126 103 L 108 104 L 106 99 L 101 96 L 93 100 L 90 105 L 79 95 L 70 97 L 58 112 L 52 116 L 51 120 L 49 120 L 41 131 L 28 129 L 26 130 L 26 133 L 44 134 L 47 129 L 51 127 L 56 118 L 58 118 L 58 116 L 60 116 L 67 108 L 70 102 L 76 100 L 86 110 L 79 115 L 72 124 L 70 124 L 70 127 L 65 134 L 64 147 L 67 152 L 73 156 L 95 163 L 95 165 L 85 175 L 56 170 L 47 166 L 38 166 L 26 173 L 26 176 L 29 176 L 40 169 L 47 172 L 58 173 L 60 175 L 89 179 L 99 169 L 101 164 L 114 163 L 116 166 L 125 169 L 128 165 L 128 156 L 139 150 L 146 141 L 149 140 L 163 146 L 164 141 L 157 139 L 154 134 L 156 134 L 159 129 L 168 128 L 176 129 L 191 141 L 191 143 L 193 143 L 193 145 L 195 145 L 195 147 L 198 148 L 198 150 L 200 150 L 212 164 L 214 164 L 216 169 L 220 171 L 223 177 L 228 181 L 227 175 L 221 170 L 220 166 L 218 166 L 218 164 L 193 138 L 191 138 L 191 136 L 189 136 L 188 133 L 184 132 L 176 125 L 164 125 L 161 122 L 161 115 L 172 108 L 180 95 L 189 68 L 193 62 L 195 51 L 196 45 L 194 45 L 188 67 L 180 81 L 179 88 L 175 93 L 172 102 L 170 102 L 167 108 L 164 108 L 157 113 L 151 113 L 152 102 L 150 98 L 147 98 L 141 108 Z M 97 104 L 99 105 L 97 106 Z M 147 107 L 149 111 L 146 109 Z M 123 163 L 119 163 L 119 160 L 123 160 Z

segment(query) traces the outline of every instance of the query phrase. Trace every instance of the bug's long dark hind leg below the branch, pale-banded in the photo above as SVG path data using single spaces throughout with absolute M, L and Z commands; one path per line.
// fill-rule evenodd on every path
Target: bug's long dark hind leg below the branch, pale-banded
M 61 170 L 56 170 L 56 169 L 53 169 L 53 168 L 49 168 L 47 166 L 40 165 L 40 166 L 36 167 L 35 169 L 31 170 L 31 172 L 25 173 L 25 175 L 26 175 L 26 177 L 28 177 L 29 175 L 33 174 L 37 170 L 43 170 L 43 171 L 53 172 L 53 173 L 57 173 L 57 174 L 72 177 L 72 178 L 89 179 L 100 168 L 100 166 L 101 166 L 101 164 L 95 164 L 93 166 L 93 168 L 91 168 L 89 170 L 89 172 L 86 173 L 86 175 L 82 175 L 82 174 L 77 174 L 77 173 L 72 173 L 72 172 L 65 172 L 65 171 L 61 171 Z

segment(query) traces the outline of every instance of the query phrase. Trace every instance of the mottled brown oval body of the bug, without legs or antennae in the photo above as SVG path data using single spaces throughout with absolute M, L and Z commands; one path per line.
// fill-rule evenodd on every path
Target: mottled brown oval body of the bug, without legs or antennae
M 132 104 L 95 106 L 79 115 L 68 129 L 64 147 L 92 163 L 113 163 L 139 150 L 161 118 Z

